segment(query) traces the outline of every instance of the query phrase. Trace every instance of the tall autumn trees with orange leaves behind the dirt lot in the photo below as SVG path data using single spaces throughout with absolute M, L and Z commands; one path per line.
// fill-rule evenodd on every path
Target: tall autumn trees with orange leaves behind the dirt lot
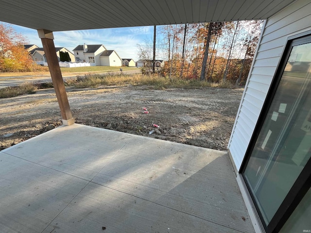
M 262 20 L 157 26 L 156 46 L 138 44 L 138 57 L 165 60 L 160 74 L 207 82 L 245 83 L 255 54 Z M 149 67 L 152 67 L 150 64 Z

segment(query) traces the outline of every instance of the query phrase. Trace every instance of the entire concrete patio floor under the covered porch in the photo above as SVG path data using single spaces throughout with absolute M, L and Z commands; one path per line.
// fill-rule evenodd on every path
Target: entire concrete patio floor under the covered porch
M 210 150 L 79 124 L 0 152 L 5 232 L 254 232 Z

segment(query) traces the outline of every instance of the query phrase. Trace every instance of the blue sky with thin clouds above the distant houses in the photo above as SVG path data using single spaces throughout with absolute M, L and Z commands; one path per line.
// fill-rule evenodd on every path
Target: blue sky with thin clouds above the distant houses
M 13 24 L 17 33 L 27 37 L 30 44 L 42 47 L 38 33 Z M 107 50 L 116 50 L 121 58 L 132 58 L 138 60 L 137 44 L 143 44 L 145 40 L 153 40 L 153 26 L 96 29 L 83 31 L 53 32 L 55 47 L 66 47 L 72 51 L 77 45 L 103 44 Z

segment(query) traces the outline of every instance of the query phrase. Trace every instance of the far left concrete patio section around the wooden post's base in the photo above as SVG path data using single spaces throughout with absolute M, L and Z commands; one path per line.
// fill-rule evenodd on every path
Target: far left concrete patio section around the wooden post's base
M 83 127 L 82 132 L 77 126 L 70 131 L 59 127 L 38 135 L 9 148 L 10 154 L 90 181 L 124 147 L 131 134 L 111 136 L 93 127 Z

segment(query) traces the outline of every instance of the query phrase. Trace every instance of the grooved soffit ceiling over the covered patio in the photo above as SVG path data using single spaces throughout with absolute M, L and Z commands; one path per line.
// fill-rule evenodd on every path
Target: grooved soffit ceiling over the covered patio
M 266 19 L 293 0 L 0 0 L 0 21 L 70 31 Z

